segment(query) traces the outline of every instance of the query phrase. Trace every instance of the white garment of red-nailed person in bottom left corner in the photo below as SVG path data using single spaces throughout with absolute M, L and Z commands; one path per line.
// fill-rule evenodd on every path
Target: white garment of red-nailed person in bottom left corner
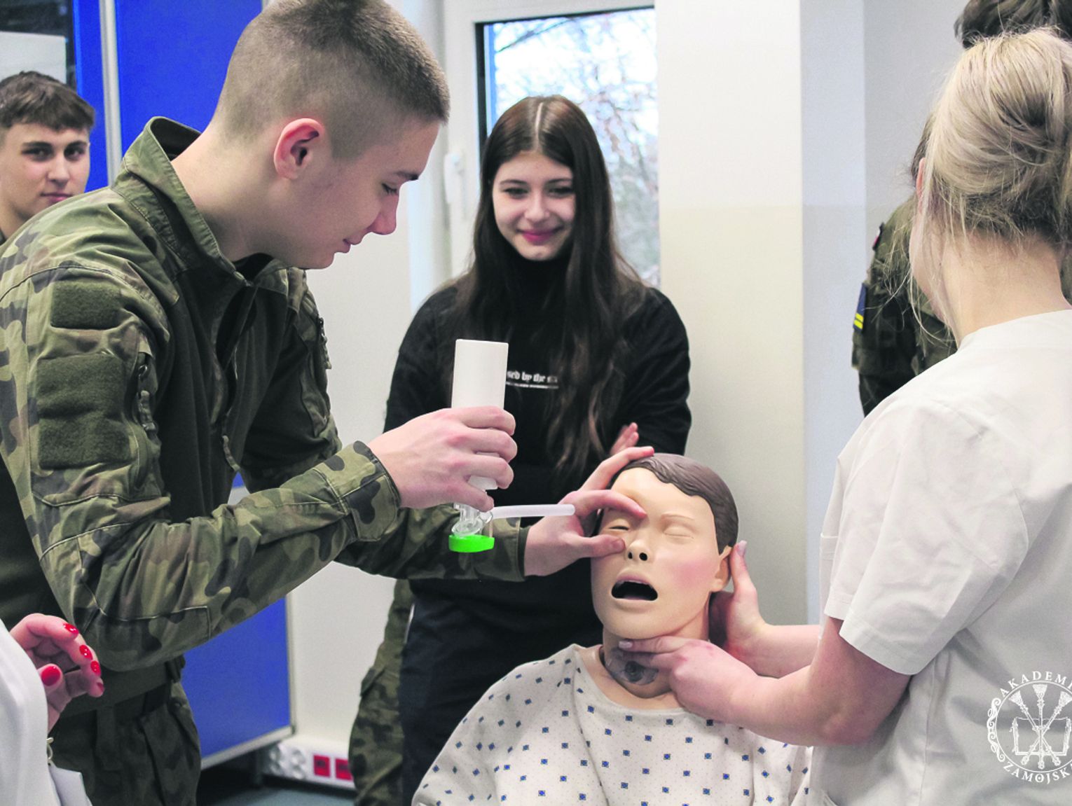
M 0 622 L 0 803 L 58 806 L 48 775 L 47 732 L 38 670 Z

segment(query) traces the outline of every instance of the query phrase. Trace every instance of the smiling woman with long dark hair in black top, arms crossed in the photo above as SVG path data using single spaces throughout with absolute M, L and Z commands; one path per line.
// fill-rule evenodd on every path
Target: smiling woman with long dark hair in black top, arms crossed
M 386 428 L 449 405 L 457 339 L 510 345 L 506 409 L 517 419 L 518 457 L 513 483 L 493 493 L 498 505 L 556 502 L 608 454 L 638 441 L 659 451 L 685 449 L 685 328 L 670 301 L 620 255 L 599 144 L 584 113 L 565 98 L 526 98 L 489 135 L 473 263 L 414 317 L 394 368 Z M 405 803 L 491 683 L 519 663 L 600 635 L 586 563 L 521 584 L 422 580 L 412 588 L 399 690 Z M 400 613 L 405 595 L 396 599 Z M 397 622 L 404 630 L 404 616 Z M 397 668 L 398 651 L 385 641 L 362 686 L 383 697 L 362 700 L 352 743 L 356 773 L 382 763 L 366 756 L 373 744 L 384 758 L 392 726 L 372 711 L 392 706 L 392 655 Z M 382 726 L 376 731 L 373 721 Z M 371 777 L 383 780 L 384 770 Z

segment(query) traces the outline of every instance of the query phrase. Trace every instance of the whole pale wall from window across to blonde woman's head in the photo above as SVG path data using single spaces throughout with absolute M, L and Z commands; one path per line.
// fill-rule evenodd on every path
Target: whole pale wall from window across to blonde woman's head
M 961 8 L 656 3 L 662 277 L 691 341 L 689 453 L 733 488 L 773 622 L 818 616 L 818 534 L 862 417 L 859 283 L 910 191 Z

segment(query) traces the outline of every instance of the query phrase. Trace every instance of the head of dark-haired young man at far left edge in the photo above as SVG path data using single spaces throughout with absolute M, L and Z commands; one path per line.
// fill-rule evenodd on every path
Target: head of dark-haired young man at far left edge
M 0 81 L 0 232 L 86 190 L 93 107 L 65 84 L 26 71 Z

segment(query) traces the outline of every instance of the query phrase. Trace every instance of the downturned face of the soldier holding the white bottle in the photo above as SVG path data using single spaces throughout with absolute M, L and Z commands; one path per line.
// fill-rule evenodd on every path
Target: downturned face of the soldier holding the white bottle
M 411 121 L 355 159 L 327 156 L 294 189 L 285 233 L 269 254 L 322 269 L 364 236 L 394 232 L 399 190 L 416 180 L 438 134 L 437 122 Z

